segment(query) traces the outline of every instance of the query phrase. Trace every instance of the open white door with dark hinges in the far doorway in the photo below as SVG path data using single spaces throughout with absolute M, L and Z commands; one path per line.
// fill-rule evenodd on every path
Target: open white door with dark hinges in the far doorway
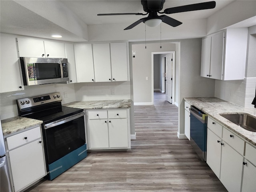
M 172 54 L 166 55 L 165 73 L 165 100 L 172 103 Z

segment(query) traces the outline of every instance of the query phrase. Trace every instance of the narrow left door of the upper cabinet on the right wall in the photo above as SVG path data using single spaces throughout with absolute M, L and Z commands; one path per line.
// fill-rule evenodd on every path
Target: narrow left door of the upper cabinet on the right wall
M 201 76 L 210 77 L 211 37 L 202 39 Z

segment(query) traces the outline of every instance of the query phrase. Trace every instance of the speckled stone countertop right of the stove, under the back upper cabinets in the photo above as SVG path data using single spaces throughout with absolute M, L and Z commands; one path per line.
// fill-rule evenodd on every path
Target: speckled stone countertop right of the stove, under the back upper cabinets
M 75 101 L 68 104 L 63 104 L 63 106 L 79 108 L 79 109 L 130 108 L 131 100 Z

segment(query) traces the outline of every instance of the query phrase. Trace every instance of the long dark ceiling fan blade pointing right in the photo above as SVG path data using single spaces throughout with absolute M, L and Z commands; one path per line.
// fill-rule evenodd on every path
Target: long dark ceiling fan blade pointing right
M 164 12 L 161 12 L 161 13 L 172 14 L 172 13 L 180 13 L 180 12 L 187 12 L 187 11 L 213 9 L 213 8 L 215 8 L 215 6 L 216 6 L 215 1 L 209 1 L 209 2 L 167 8 L 164 10 Z

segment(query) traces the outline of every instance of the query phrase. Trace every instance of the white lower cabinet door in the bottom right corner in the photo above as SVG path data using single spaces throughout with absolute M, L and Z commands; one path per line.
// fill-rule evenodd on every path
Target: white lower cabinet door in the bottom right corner
M 256 167 L 246 159 L 244 162 L 246 164 L 244 165 L 242 192 L 254 192 L 256 191 Z

